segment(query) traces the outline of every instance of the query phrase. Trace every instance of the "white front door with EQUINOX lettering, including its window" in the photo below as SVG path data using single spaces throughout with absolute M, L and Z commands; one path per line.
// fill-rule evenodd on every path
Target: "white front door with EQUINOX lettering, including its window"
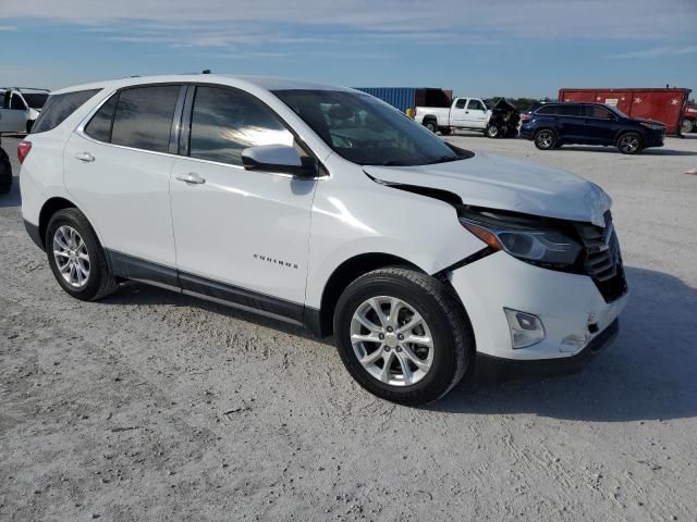
M 196 87 L 188 132 L 171 176 L 182 287 L 299 321 L 318 182 L 246 171 L 241 159 L 293 135 L 255 97 L 209 86 Z

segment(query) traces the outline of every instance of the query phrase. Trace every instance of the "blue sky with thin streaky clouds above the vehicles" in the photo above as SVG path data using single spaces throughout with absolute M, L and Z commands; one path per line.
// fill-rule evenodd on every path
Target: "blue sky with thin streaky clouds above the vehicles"
M 262 74 L 552 97 L 687 87 L 697 0 L 0 0 L 0 86 Z

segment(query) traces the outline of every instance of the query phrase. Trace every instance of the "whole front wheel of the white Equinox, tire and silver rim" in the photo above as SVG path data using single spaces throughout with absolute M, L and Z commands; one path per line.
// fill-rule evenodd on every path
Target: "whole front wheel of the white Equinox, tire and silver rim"
M 354 281 L 334 313 L 339 355 L 356 382 L 393 402 L 417 406 L 452 389 L 474 364 L 472 327 L 440 281 L 403 268 Z

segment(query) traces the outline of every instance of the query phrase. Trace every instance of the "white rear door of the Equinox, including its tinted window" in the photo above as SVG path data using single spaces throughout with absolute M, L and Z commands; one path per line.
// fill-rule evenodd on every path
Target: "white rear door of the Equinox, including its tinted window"
M 170 134 L 181 103 L 180 85 L 123 89 L 65 147 L 68 190 L 124 262 L 175 265 Z

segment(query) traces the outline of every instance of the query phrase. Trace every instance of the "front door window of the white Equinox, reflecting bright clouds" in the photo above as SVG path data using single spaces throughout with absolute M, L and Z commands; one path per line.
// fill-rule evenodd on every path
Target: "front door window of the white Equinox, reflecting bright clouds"
M 196 87 L 189 156 L 242 165 L 242 151 L 260 145 L 292 146 L 293 135 L 259 100 L 245 92 Z

